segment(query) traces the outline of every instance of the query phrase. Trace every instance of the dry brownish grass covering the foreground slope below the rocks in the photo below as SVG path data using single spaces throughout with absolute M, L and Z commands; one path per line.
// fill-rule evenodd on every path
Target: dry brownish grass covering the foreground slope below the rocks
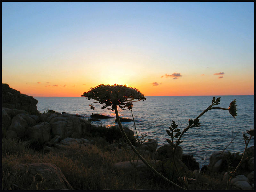
M 105 146 L 106 144 L 102 142 L 96 142 L 92 146 L 72 145 L 65 147 L 64 150 L 55 149 L 50 153 L 44 153 L 26 147 L 20 141 L 3 138 L 2 190 L 45 189 L 43 182 L 27 181 L 26 173 L 14 171 L 12 167 L 17 163 L 55 164 L 76 190 L 175 189 L 153 174 L 145 178 L 141 177 L 141 174 L 135 169 L 128 172 L 113 169 L 112 164 L 132 159 L 137 160 L 137 157 L 125 149 L 107 151 Z M 148 157 L 145 158 L 149 160 Z M 158 165 L 155 168 L 162 173 L 168 172 L 163 165 Z M 197 183 L 191 184 L 191 188 L 211 190 L 217 189 L 217 185 L 220 186 L 219 180 L 216 178 L 203 177 L 201 180 L 198 179 Z

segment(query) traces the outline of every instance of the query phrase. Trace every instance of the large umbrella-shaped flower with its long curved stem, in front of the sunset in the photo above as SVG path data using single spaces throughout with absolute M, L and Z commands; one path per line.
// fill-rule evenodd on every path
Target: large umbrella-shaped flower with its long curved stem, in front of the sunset
M 134 148 L 131 141 L 128 139 L 127 135 L 124 132 L 124 128 L 123 128 L 120 118 L 119 118 L 117 106 L 119 106 L 121 109 L 126 109 L 129 107 L 129 106 L 126 106 L 128 103 L 131 103 L 134 101 L 146 100 L 144 95 L 142 93 L 140 93 L 139 90 L 132 88 L 132 87 L 127 87 L 124 85 L 116 85 L 116 84 L 101 85 L 100 84 L 95 88 L 91 88 L 88 92 L 84 92 L 84 94 L 81 96 L 86 97 L 88 100 L 94 99 L 97 101 L 97 102 L 93 102 L 93 103 L 105 104 L 105 106 L 102 107 L 103 109 L 109 107 L 108 108 L 109 110 L 115 111 L 117 123 L 119 125 L 119 128 L 120 128 L 125 140 L 130 145 L 132 150 L 138 155 L 138 157 L 145 163 L 145 165 L 147 167 L 149 167 L 149 169 L 152 172 L 154 172 L 155 174 L 157 174 L 164 180 L 170 182 L 172 185 L 174 185 L 180 189 L 185 189 L 185 188 L 180 187 L 176 183 L 170 181 L 169 179 L 164 177 L 162 174 L 157 172 L 151 165 L 149 165 L 149 163 Z M 90 108 L 94 109 L 92 104 L 90 105 Z

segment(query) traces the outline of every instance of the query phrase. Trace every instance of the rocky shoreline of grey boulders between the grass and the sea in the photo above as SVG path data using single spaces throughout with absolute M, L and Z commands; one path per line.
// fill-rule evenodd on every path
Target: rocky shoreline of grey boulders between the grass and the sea
M 73 144 L 92 146 L 95 144 L 95 141 L 89 138 L 93 137 L 108 142 L 108 151 L 121 150 L 122 148 L 130 149 L 122 139 L 118 126 L 110 128 L 93 126 L 87 120 L 77 115 L 61 114 L 53 110 L 39 113 L 36 104 L 37 100 L 32 96 L 21 94 L 19 91 L 10 88 L 9 85 L 2 84 L 2 137 L 20 139 L 26 145 L 37 150 L 43 150 L 44 152 L 50 152 L 55 148 L 61 150 L 65 146 Z M 140 153 L 148 155 L 154 163 L 166 162 L 172 159 L 170 145 L 166 144 L 157 149 L 158 144 L 154 139 L 149 139 L 139 145 L 132 130 L 125 128 L 125 132 L 132 144 L 140 150 Z M 254 146 L 247 149 L 246 155 L 238 175 L 230 182 L 230 188 L 232 189 L 254 189 Z M 224 180 L 227 177 L 227 158 L 230 158 L 232 154 L 228 151 L 213 153 L 210 157 L 209 165 L 204 166 L 201 170 L 199 170 L 199 163 L 196 162 L 193 156 L 182 153 L 181 147 L 178 148 L 175 156 L 178 167 L 185 172 L 190 171 L 193 173 L 194 179 L 199 174 L 208 172 L 220 174 Z M 61 173 L 61 170 L 55 165 L 27 163 L 17 165 L 17 167 L 26 171 L 24 167 L 28 165 L 29 171 L 34 171 L 35 174 L 40 172 L 44 178 L 48 175 L 48 177 L 51 177 L 49 180 L 52 180 L 52 175 L 48 173 L 51 170 L 51 173 L 55 174 L 54 178 L 56 183 L 58 183 L 58 188 L 73 189 Z M 127 161 L 113 165 L 116 169 L 129 169 L 129 166 L 131 166 L 131 163 Z M 42 169 L 42 167 L 44 168 Z M 148 172 L 148 168 L 140 161 L 138 161 L 137 167 L 143 173 Z

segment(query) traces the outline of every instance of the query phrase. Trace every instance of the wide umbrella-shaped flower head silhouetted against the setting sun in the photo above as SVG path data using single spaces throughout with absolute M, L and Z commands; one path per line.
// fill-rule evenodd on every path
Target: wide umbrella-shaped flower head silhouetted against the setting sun
M 118 105 L 121 109 L 125 109 L 127 103 L 145 100 L 146 98 L 138 89 L 127 87 L 126 85 L 98 85 L 91 88 L 88 92 L 84 92 L 81 97 L 88 100 L 94 99 L 100 104 L 105 104 L 102 108 L 110 107 L 109 110 L 115 110 Z M 91 109 L 92 109 L 92 105 Z

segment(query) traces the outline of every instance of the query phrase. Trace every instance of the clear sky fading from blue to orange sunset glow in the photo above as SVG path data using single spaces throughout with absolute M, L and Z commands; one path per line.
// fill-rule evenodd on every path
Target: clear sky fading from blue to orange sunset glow
M 254 2 L 2 2 L 2 83 L 144 96 L 254 95 Z

